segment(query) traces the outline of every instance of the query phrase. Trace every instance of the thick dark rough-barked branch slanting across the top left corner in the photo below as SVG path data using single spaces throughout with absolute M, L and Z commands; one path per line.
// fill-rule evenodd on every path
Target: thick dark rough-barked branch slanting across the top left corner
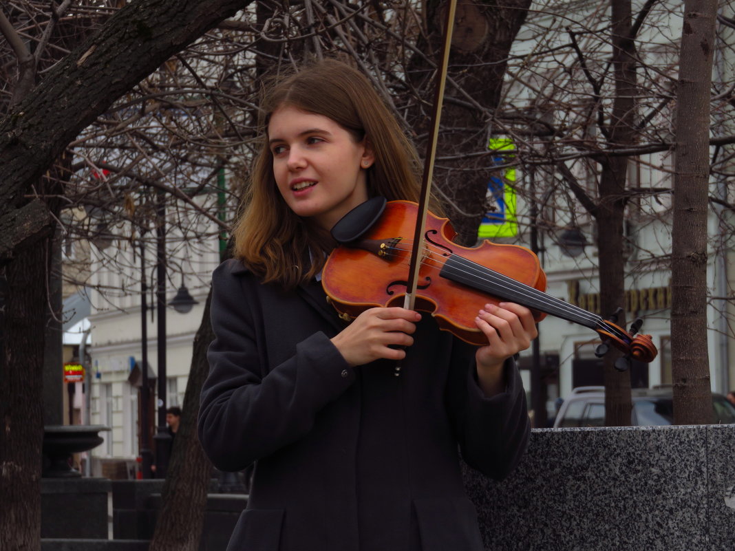
M 248 3 L 139 0 L 112 15 L 0 120 L 0 220 L 113 101 Z

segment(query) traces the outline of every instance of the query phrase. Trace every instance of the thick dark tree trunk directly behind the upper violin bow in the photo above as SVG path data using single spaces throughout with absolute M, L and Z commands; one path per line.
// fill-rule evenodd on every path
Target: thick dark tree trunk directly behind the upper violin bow
M 456 242 L 462 245 L 475 245 L 477 229 L 485 214 L 478 208 L 485 204 L 487 183 L 490 170 L 487 159 L 482 157 L 462 158 L 462 154 L 475 153 L 478 149 L 487 150 L 487 134 L 490 127 L 488 113 L 498 107 L 506 71 L 507 58 L 520 26 L 526 21 L 530 0 L 512 0 L 504 4 L 482 1 L 459 0 L 455 28 L 453 31 L 449 76 L 460 84 L 462 90 L 471 96 L 483 109 L 467 104 L 466 97 L 451 84 L 447 84 L 447 96 L 442 109 L 442 132 L 437 151 L 442 155 L 454 155 L 459 159 L 442 162 L 434 168 L 437 181 L 446 198 L 454 229 Z M 429 57 L 437 58 L 442 42 L 444 12 L 440 4 L 434 3 L 428 14 L 429 44 L 419 43 L 417 47 L 428 51 Z M 439 62 L 438 59 L 434 59 Z M 434 77 L 426 63 L 415 63 L 410 68 L 412 80 L 427 97 L 432 97 L 433 86 L 426 76 Z M 415 131 L 426 132 L 429 118 L 417 115 Z M 419 148 L 419 152 L 423 153 Z M 467 159 L 478 159 L 470 166 Z M 468 170 L 473 169 L 473 170 Z

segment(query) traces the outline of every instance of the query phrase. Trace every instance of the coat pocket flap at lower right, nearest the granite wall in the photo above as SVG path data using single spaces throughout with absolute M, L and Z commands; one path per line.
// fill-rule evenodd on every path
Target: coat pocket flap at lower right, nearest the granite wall
M 414 500 L 423 551 L 484 551 L 475 505 L 466 497 Z

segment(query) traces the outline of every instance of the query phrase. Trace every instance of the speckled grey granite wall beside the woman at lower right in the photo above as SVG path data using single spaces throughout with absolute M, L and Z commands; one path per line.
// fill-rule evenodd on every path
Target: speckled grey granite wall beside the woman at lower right
M 735 425 L 538 429 L 506 480 L 467 469 L 487 550 L 735 549 Z

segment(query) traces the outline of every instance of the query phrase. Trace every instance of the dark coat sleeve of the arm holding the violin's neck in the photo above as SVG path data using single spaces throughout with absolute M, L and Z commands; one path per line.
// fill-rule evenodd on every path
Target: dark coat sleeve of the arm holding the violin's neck
M 455 342 L 447 406 L 465 462 L 502 480 L 516 467 L 528 446 L 531 422 L 526 392 L 516 362 L 503 366 L 505 392 L 486 397 L 478 380 L 474 347 Z

